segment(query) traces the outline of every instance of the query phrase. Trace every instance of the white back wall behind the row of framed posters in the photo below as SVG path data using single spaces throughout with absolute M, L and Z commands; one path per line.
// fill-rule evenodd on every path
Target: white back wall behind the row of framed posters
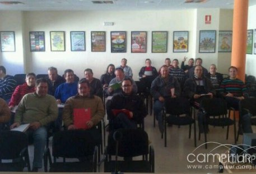
M 204 16 L 212 15 L 211 25 L 204 23 Z M 5 16 L 10 20 L 3 20 Z M 120 64 L 122 58 L 128 59 L 128 65 L 132 67 L 134 79 L 137 80 L 139 69 L 145 64 L 145 59 L 150 58 L 152 65 L 159 68 L 164 64 L 165 58 L 179 59 L 180 62 L 187 56 L 189 58 L 201 57 L 204 67 L 218 63 L 217 49 L 215 53 L 198 53 L 199 30 L 218 30 L 220 23 L 219 9 L 206 10 L 177 10 L 177 11 L 36 11 L 36 12 L 7 12 L 0 11 L 1 31 L 14 30 L 17 36 L 24 33 L 22 38 L 16 41 L 15 53 L 4 53 L 1 59 L 10 74 L 16 74 L 16 65 L 12 66 L 8 61 L 13 59 L 12 54 L 17 54 L 15 59 L 24 58 L 24 72 L 46 73 L 50 66 L 57 67 L 59 74 L 65 69 L 71 68 L 79 77 L 83 77 L 85 68 L 92 68 L 94 77 L 99 78 L 105 72 L 109 63 Z M 103 22 L 114 22 L 113 26 L 103 26 Z M 15 25 L 15 26 L 12 26 Z M 22 28 L 22 26 L 24 26 Z M 29 31 L 45 31 L 44 52 L 30 52 Z M 66 51 L 50 51 L 50 31 L 66 32 Z M 70 31 L 86 32 L 86 51 L 71 51 Z M 106 31 L 106 52 L 91 52 L 91 31 Z M 127 53 L 111 53 L 110 31 L 127 31 Z M 147 53 L 131 53 L 131 31 L 147 31 Z M 167 53 L 151 53 L 151 32 L 168 31 Z M 189 52 L 173 53 L 173 31 L 189 31 Z M 217 48 L 216 32 L 216 48 Z M 18 58 L 16 58 L 18 57 Z M 227 58 L 230 59 L 230 58 Z M 8 61 L 7 61 L 8 60 Z M 15 62 L 16 63 L 16 62 Z M 220 72 L 220 68 L 218 69 Z

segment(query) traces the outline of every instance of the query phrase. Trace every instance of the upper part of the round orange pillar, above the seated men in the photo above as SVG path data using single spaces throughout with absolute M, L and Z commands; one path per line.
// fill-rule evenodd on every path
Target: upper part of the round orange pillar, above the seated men
M 231 65 L 238 68 L 238 78 L 245 80 L 247 21 L 249 0 L 234 0 Z

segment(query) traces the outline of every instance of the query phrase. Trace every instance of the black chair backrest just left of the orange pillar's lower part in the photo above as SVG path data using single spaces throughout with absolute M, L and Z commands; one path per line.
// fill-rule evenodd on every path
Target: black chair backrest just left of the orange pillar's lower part
M 227 104 L 223 98 L 203 98 L 200 106 L 209 116 L 218 116 L 227 114 Z

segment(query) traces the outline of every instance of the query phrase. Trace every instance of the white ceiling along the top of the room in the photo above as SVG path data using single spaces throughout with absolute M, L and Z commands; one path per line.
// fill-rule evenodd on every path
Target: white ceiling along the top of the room
M 249 0 L 249 6 L 255 4 L 256 0 Z M 17 11 L 183 10 L 233 7 L 234 0 L 0 0 L 0 10 Z

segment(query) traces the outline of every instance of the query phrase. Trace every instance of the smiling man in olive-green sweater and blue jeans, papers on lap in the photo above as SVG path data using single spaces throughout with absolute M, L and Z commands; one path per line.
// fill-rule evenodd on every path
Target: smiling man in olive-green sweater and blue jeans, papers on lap
M 30 124 L 25 133 L 33 138 L 33 172 L 37 172 L 38 168 L 42 167 L 47 139 L 46 125 L 57 119 L 58 116 L 57 102 L 53 96 L 47 93 L 48 83 L 46 79 L 36 80 L 35 93 L 28 93 L 22 98 L 15 113 L 15 123 L 11 125 L 11 129 L 13 129 L 21 124 Z

